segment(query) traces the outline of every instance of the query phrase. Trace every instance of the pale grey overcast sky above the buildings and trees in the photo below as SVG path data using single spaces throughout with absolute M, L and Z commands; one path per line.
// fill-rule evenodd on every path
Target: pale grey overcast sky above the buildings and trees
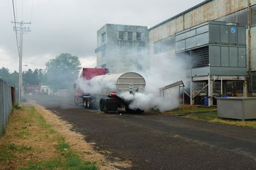
M 31 21 L 26 25 L 31 32 L 23 35 L 23 65 L 28 65 L 23 70 L 45 69 L 48 59 L 60 53 L 78 56 L 82 67 L 95 67 L 97 30 L 104 24 L 150 28 L 200 2 L 203 0 L 14 0 L 16 21 Z M 0 68 L 18 71 L 12 0 L 0 1 L 0 16 Z

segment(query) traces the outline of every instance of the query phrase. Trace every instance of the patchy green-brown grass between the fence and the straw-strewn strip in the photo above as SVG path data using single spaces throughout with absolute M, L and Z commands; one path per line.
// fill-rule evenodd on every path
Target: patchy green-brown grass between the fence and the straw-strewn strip
M 0 139 L 0 169 L 99 169 L 80 158 L 34 107 L 14 109 Z

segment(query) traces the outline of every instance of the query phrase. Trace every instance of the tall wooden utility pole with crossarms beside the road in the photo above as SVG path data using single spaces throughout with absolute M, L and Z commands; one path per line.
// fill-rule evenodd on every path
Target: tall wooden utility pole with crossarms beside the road
M 22 43 L 23 43 L 23 33 L 31 32 L 30 27 L 23 27 L 24 24 L 31 24 L 23 23 L 22 22 L 11 22 L 15 24 L 19 24 L 19 27 L 13 27 L 14 31 L 19 31 L 19 103 L 22 96 Z

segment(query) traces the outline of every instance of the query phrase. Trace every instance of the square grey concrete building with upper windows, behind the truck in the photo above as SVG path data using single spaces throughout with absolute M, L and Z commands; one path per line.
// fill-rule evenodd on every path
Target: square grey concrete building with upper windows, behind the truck
M 97 31 L 97 68 L 110 73 L 148 67 L 148 29 L 138 25 L 105 24 Z M 146 53 L 146 54 L 145 54 Z

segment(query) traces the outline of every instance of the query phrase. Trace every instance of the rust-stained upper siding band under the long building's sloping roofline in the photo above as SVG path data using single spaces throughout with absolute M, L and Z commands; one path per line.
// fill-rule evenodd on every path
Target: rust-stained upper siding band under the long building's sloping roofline
M 256 0 L 251 1 L 251 5 L 255 4 Z M 206 22 L 208 20 L 215 20 L 222 16 L 232 14 L 235 11 L 242 10 L 247 7 L 246 0 L 215 0 L 205 3 L 192 11 L 184 14 L 184 26 L 186 28 Z M 183 16 L 177 16 L 154 29 L 150 29 L 149 40 L 155 42 L 162 40 L 168 36 L 174 35 L 175 32 L 183 30 Z M 152 45 L 150 45 L 152 48 Z M 154 46 L 153 46 L 154 48 Z M 151 51 L 151 50 L 150 50 Z

